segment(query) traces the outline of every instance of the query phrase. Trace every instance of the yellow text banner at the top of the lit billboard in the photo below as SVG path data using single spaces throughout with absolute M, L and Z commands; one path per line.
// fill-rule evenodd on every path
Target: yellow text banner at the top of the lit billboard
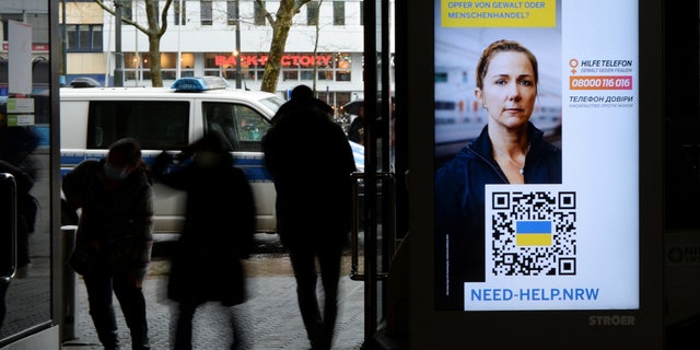
M 553 27 L 557 0 L 441 0 L 443 27 Z

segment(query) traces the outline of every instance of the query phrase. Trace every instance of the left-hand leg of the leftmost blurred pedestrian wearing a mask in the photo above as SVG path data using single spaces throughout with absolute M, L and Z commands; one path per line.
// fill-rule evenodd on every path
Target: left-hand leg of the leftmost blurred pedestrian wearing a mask
M 117 334 L 117 316 L 112 304 L 112 276 L 105 271 L 95 270 L 83 275 L 90 316 L 95 325 L 97 338 L 105 350 L 119 349 Z

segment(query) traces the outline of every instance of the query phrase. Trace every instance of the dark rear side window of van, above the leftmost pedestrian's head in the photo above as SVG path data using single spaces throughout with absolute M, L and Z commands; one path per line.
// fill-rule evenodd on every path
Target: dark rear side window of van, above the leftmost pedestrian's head
M 144 150 L 182 150 L 188 143 L 186 101 L 92 101 L 88 149 L 108 149 L 118 139 L 139 140 Z

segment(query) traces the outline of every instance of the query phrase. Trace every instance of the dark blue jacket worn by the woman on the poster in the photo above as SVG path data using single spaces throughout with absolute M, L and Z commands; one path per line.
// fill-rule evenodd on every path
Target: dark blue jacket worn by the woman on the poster
M 488 126 L 435 173 L 435 301 L 438 308 L 463 308 L 464 282 L 485 281 L 485 192 L 487 184 L 509 184 L 492 156 Z M 528 124 L 526 184 L 561 184 L 561 150 Z

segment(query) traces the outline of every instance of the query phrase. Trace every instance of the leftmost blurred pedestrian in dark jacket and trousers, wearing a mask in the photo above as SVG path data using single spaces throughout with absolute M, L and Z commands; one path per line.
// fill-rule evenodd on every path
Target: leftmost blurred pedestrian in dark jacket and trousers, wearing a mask
M 67 205 L 81 209 L 70 266 L 82 275 L 90 316 L 105 349 L 119 349 L 113 291 L 131 334 L 131 349 L 150 349 L 142 283 L 151 259 L 154 194 L 141 148 L 120 139 L 101 160 L 66 174 Z

